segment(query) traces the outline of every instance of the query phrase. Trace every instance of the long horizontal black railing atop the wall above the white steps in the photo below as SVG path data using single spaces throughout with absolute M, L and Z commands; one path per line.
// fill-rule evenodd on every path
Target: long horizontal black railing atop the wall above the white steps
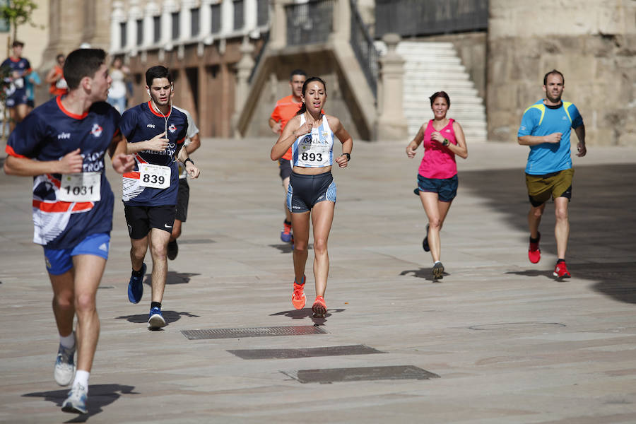
M 488 28 L 488 0 L 376 0 L 375 38 L 463 33 Z

